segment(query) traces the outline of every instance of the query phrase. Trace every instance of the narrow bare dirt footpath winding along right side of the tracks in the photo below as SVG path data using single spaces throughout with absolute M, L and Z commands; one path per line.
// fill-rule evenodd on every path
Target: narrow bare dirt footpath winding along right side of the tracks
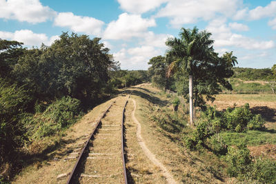
M 157 167 L 160 167 L 164 176 L 166 177 L 167 182 L 168 183 L 177 183 L 174 180 L 174 178 L 172 177 L 172 175 L 168 172 L 167 168 L 158 159 L 156 159 L 155 154 L 152 154 L 152 152 L 150 152 L 150 150 L 148 150 L 148 147 L 146 146 L 146 143 L 144 142 L 144 139 L 141 136 L 141 124 L 135 117 L 136 101 L 134 99 L 132 99 L 132 101 L 134 103 L 134 110 L 132 111 L 132 119 L 133 119 L 133 121 L 135 121 L 135 123 L 137 123 L 136 135 L 137 135 L 139 145 L 141 146 L 141 148 L 144 151 L 144 153 L 146 154 L 146 156 L 148 156 L 148 159 L 150 159 L 150 161 L 152 161 L 152 163 L 157 165 Z

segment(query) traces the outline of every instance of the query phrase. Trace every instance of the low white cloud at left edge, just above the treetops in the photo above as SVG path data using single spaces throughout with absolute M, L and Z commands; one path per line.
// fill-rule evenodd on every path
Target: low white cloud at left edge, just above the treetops
M 37 34 L 31 30 L 17 30 L 15 32 L 0 31 L 0 37 L 1 39 L 23 42 L 28 46 L 40 46 L 41 43 L 51 45 L 56 39 L 59 39 L 58 36 L 48 38 L 46 34 Z

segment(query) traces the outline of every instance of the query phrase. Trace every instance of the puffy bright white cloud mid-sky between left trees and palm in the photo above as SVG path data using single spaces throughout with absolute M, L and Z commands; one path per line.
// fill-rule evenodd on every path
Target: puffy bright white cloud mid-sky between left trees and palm
M 143 19 L 139 14 L 123 13 L 117 21 L 108 24 L 103 38 L 127 40 L 132 37 L 143 37 L 146 30 L 155 25 L 155 19 Z

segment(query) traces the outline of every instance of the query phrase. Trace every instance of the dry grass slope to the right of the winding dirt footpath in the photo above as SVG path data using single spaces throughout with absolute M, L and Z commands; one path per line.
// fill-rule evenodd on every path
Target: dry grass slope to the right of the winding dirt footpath
M 202 159 L 196 153 L 189 152 L 170 139 L 173 135 L 165 136 L 155 123 L 150 121 L 155 107 L 170 107 L 166 95 L 161 95 L 160 91 L 151 85 L 143 85 L 135 91 L 137 92 L 132 93 L 132 98 L 137 101 L 135 116 L 141 123 L 141 133 L 146 145 L 167 167 L 175 180 L 179 183 L 221 183 L 213 169 L 213 165 L 217 164 L 213 162 L 215 158 L 210 159 L 210 155 L 206 155 L 206 161 L 206 158 Z

